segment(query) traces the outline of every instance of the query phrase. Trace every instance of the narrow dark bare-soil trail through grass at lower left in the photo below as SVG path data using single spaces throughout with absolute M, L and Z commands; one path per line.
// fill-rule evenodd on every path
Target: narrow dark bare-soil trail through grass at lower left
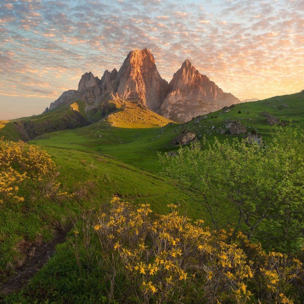
M 57 244 L 66 240 L 67 232 L 71 227 L 60 230 L 49 243 L 36 245 L 33 256 L 27 256 L 26 261 L 20 268 L 16 268 L 16 273 L 8 278 L 8 281 L 0 286 L 0 295 L 9 295 L 26 287 L 30 278 L 38 272 L 55 253 Z

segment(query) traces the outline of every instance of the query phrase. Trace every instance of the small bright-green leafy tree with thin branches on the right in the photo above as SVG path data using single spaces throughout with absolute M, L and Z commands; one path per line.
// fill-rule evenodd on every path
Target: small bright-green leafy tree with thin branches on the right
M 231 225 L 269 247 L 302 246 L 304 229 L 304 134 L 278 129 L 271 143 L 234 139 L 180 148 L 161 156 L 164 172 L 209 214 L 217 229 Z

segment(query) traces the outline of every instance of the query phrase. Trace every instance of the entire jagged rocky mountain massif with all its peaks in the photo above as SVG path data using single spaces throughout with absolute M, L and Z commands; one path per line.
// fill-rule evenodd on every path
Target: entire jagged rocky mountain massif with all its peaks
M 145 48 L 131 51 L 119 71 L 106 70 L 100 79 L 91 72 L 83 74 L 78 89 L 64 92 L 44 113 L 78 99 L 85 101 L 88 112 L 113 96 L 181 123 L 240 102 L 200 74 L 189 60 L 168 84 L 158 73 L 153 54 Z

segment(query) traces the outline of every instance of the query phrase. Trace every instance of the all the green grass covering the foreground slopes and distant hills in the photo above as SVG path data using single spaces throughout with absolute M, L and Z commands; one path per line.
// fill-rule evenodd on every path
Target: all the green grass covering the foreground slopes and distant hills
M 2 282 L 8 280 L 8 275 L 14 273 L 26 255 L 19 250 L 20 244 L 34 244 L 38 238 L 42 242 L 50 241 L 58 227 L 73 225 L 67 241 L 57 245 L 56 254 L 26 288 L 11 295 L 0 294 L 0 302 L 118 303 L 115 297 L 108 298 L 109 286 L 103 282 L 101 267 L 104 265 L 101 266 L 99 261 L 104 256 L 98 252 L 98 237 L 90 237 L 90 250 L 83 243 L 77 243 L 78 240 L 85 240 L 82 231 L 92 228 L 96 221 L 95 210 L 103 210 L 116 195 L 136 206 L 150 204 L 156 215 L 168 214 L 170 208 L 167 205 L 175 204 L 180 214 L 193 220 L 205 219 L 202 206 L 181 193 L 171 180 L 161 174 L 158 152 L 177 151 L 178 147 L 169 144 L 172 138 L 189 130 L 195 131 L 197 137 L 202 135 L 199 138 L 201 142 L 204 137 L 209 143 L 214 142 L 214 137 L 221 142 L 226 139 L 230 141 L 235 136 L 220 134 L 220 131 L 226 121 L 232 119 L 239 120 L 248 132 L 255 130 L 261 133 L 263 141 L 267 143 L 271 140 L 274 126 L 267 123 L 265 112 L 286 125 L 304 128 L 304 93 L 238 104 L 229 112 L 219 110 L 206 115 L 206 118 L 202 116 L 185 124 L 171 123 L 154 112 L 124 101 L 108 105 L 106 111 L 101 108 L 86 113 L 81 101 L 75 102 L 72 108 L 62 106 L 33 118 L 0 122 L 0 137 L 17 141 L 25 138 L 16 125 L 20 121 L 33 121 L 37 136 L 28 144 L 47 151 L 59 173 L 54 178 L 56 183 L 60 183 L 58 191 L 67 193 L 61 199 L 57 196 L 54 199 L 40 196 L 40 184 L 33 179 L 32 185 L 36 187 L 34 193 L 29 182 L 20 185 L 18 191 L 25 202 L 34 197 L 34 204 L 30 207 L 25 203 L 21 207 L 15 203 L 0 206 L 4 209 L 0 215 Z M 99 120 L 101 114 L 106 116 Z M 67 117 L 77 117 L 78 122 L 73 129 L 60 130 L 67 120 L 71 120 Z M 47 132 L 53 129 L 54 132 L 43 133 L 43 130 Z M 233 216 L 224 207 L 223 216 Z M 74 231 L 79 231 L 79 235 Z M 75 246 L 79 246 L 78 255 L 75 255 Z M 124 280 L 124 275 L 119 276 L 114 294 L 119 293 L 119 288 L 126 288 Z M 136 298 L 128 301 L 138 303 Z M 153 297 L 149 301 L 152 303 Z M 225 303 L 236 303 L 232 299 L 227 301 Z M 248 303 L 257 303 L 254 302 L 257 298 L 250 301 Z

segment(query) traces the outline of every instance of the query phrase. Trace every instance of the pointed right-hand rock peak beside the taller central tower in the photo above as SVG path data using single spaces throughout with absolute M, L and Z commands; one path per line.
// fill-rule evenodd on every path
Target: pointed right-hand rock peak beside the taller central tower
M 240 102 L 232 94 L 223 92 L 207 76 L 200 74 L 189 60 L 185 60 L 169 85 L 170 92 L 158 113 L 178 123 Z

